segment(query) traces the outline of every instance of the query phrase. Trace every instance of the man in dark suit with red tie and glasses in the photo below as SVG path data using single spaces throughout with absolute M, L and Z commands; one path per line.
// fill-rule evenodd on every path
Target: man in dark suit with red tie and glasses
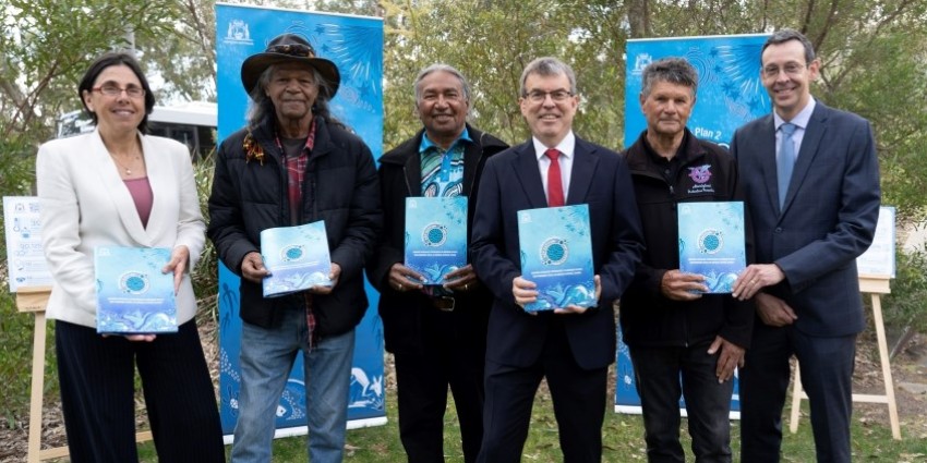
M 643 247 L 630 173 L 617 153 L 573 133 L 576 76 L 540 58 L 521 74 L 528 142 L 486 161 L 472 231 L 472 259 L 493 293 L 485 368 L 483 446 L 478 461 L 519 462 L 531 405 L 546 377 L 565 462 L 602 459 L 609 365 L 615 361 L 612 303 L 630 283 Z M 521 277 L 517 212 L 589 206 L 598 307 L 528 314 L 533 282 Z

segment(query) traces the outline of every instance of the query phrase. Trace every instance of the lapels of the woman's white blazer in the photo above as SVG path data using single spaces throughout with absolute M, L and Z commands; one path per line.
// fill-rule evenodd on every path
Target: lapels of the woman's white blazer
M 153 176 L 152 166 L 157 162 L 152 159 L 154 154 L 151 153 L 151 146 L 146 146 L 144 137 L 142 138 L 142 150 L 143 156 L 145 156 L 145 167 L 148 170 L 148 179 L 151 179 Z M 122 178 L 119 175 L 119 169 L 116 167 L 116 162 L 106 149 L 106 145 L 104 145 L 98 131 L 94 132 L 91 151 L 92 160 L 96 163 L 99 184 L 106 188 L 109 193 L 108 196 L 112 198 L 112 203 L 119 214 L 119 221 L 122 223 L 123 230 L 125 230 L 129 236 L 140 245 L 152 246 L 152 239 L 142 227 L 142 219 L 139 218 L 139 211 L 135 209 L 135 202 L 132 199 L 132 195 L 129 193 L 129 188 L 125 186 L 125 183 L 122 182 Z M 159 168 L 160 167 L 156 168 L 156 170 Z M 157 195 L 158 192 L 155 190 L 154 183 L 152 184 L 152 191 L 153 194 Z M 157 223 L 153 221 L 157 220 L 157 217 L 155 216 L 156 206 L 157 200 L 152 204 L 152 216 L 148 219 L 149 223 Z M 108 224 L 100 223 L 99 226 L 107 227 Z

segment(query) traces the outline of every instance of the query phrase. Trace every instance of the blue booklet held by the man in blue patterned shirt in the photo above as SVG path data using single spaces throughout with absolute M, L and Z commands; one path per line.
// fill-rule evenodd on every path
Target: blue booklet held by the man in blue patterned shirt
M 467 196 L 406 198 L 406 267 L 443 284 L 467 265 Z

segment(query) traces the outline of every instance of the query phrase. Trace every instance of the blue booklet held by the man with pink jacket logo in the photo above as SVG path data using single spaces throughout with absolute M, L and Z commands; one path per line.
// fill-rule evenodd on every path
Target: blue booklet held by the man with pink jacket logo
M 744 203 L 681 203 L 679 271 L 705 276 L 709 293 L 730 293 L 747 267 Z

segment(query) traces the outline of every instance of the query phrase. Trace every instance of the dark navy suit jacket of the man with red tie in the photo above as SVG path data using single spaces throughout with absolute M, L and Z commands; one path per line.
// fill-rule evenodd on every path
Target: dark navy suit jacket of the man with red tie
M 576 138 L 567 205 L 588 204 L 592 260 L 601 276 L 599 306 L 582 315 L 532 316 L 516 305 L 513 280 L 521 275 L 517 212 L 546 207 L 534 147 L 527 143 L 486 162 L 473 218 L 472 257 L 477 275 L 495 300 L 490 314 L 486 358 L 526 367 L 544 349 L 547 317 L 563 317 L 577 364 L 602 368 L 615 361 L 612 304 L 634 278 L 643 239 L 627 163 L 617 153 Z

